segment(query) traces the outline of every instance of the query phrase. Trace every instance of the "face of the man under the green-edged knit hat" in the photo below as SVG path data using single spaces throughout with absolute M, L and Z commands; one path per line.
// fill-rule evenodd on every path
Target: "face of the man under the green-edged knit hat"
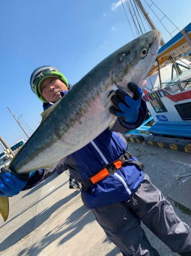
M 46 78 L 40 85 L 42 96 L 48 102 L 58 101 L 62 96 L 61 91 L 67 91 L 67 86 L 59 78 Z

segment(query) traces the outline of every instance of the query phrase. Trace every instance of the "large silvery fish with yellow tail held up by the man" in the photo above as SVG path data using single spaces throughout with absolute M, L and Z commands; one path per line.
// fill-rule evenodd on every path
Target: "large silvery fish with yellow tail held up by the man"
M 150 71 L 160 46 L 160 32 L 152 30 L 132 40 L 101 61 L 56 104 L 42 114 L 42 122 L 9 168 L 29 173 L 53 167 L 58 161 L 87 145 L 110 126 L 111 90 L 128 82 L 141 84 Z M 8 218 L 8 198 L 0 197 L 0 213 Z

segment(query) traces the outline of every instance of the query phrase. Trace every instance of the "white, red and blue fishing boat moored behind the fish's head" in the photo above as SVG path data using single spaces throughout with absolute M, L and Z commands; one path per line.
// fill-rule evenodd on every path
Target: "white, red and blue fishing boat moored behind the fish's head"
M 156 29 L 140 0 L 134 3 Z M 191 139 L 191 23 L 161 45 L 143 89 L 146 121 L 127 133 Z

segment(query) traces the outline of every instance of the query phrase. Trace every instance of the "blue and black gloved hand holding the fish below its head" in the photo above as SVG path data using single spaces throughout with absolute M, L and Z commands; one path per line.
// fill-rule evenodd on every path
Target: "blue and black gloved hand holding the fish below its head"
M 111 106 L 110 112 L 124 120 L 126 123 L 134 124 L 138 119 L 143 91 L 135 83 L 128 83 L 127 86 L 134 93 L 133 98 L 121 89 L 116 90 L 116 95 L 111 97 L 111 101 L 116 107 Z

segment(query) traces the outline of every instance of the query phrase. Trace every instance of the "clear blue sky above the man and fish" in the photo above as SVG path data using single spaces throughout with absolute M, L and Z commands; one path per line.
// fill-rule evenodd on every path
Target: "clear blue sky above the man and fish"
M 34 69 L 57 66 L 75 84 L 101 60 L 138 37 L 123 2 L 124 7 L 121 0 L 0 1 L 0 136 L 9 146 L 27 136 L 7 107 L 28 136 L 41 121 L 42 102 L 29 83 Z M 152 4 L 154 14 L 147 3 L 152 2 L 142 0 L 166 42 L 171 38 L 166 28 L 170 33 L 175 29 L 169 20 L 180 30 L 191 22 L 191 0 L 155 0 L 169 18 L 163 18 L 164 26 L 158 20 L 163 14 Z M 143 25 L 149 31 L 144 20 Z

